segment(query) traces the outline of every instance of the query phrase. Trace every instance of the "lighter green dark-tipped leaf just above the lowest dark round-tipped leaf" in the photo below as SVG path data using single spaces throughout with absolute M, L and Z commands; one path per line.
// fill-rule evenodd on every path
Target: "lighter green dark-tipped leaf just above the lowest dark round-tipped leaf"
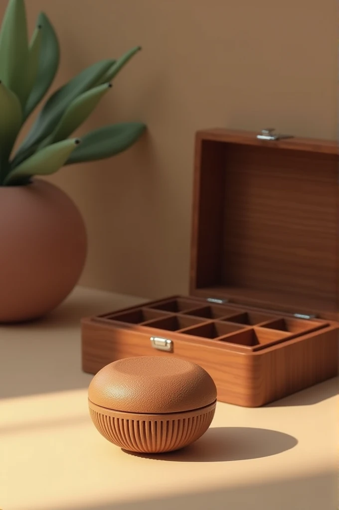
M 105 83 L 87 90 L 78 96 L 66 109 L 59 124 L 48 139 L 48 143 L 59 142 L 71 135 L 92 113 L 100 99 L 111 88 Z

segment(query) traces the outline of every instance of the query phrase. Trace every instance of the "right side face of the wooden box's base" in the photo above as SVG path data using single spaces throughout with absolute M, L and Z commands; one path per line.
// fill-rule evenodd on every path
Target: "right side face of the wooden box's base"
M 296 393 L 338 374 L 338 329 L 327 329 L 255 354 L 252 406 Z

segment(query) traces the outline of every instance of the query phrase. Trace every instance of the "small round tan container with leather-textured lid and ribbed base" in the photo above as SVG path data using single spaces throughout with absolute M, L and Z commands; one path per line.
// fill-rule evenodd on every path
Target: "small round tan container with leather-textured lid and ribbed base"
M 199 439 L 210 426 L 216 387 L 200 366 L 178 358 L 138 356 L 106 365 L 88 389 L 91 419 L 111 443 L 163 453 Z

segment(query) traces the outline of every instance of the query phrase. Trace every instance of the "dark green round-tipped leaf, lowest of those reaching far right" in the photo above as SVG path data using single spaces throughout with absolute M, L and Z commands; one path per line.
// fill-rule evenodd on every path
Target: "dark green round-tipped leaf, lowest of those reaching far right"
M 141 122 L 124 122 L 100 127 L 81 137 L 81 145 L 72 152 L 66 165 L 110 158 L 128 149 L 145 130 L 146 125 Z

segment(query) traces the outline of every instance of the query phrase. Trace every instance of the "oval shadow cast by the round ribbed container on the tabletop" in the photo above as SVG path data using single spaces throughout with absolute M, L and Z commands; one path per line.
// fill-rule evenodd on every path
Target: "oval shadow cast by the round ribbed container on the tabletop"
M 210 427 L 204 436 L 181 450 L 129 455 L 165 462 L 230 462 L 269 457 L 294 448 L 298 440 L 283 432 L 252 427 Z

